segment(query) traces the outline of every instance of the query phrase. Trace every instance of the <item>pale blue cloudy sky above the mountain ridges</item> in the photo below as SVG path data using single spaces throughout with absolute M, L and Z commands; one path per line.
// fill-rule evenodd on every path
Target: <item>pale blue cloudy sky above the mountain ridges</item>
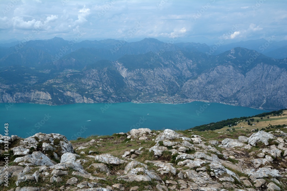
M 1 0 L 0 40 L 287 40 L 286 0 Z

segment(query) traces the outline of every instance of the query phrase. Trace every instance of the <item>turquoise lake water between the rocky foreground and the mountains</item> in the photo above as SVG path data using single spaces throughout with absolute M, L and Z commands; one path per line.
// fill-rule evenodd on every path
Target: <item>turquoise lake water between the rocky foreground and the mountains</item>
M 223 119 L 266 112 L 220 103 L 94 103 L 39 105 L 1 103 L 0 134 L 9 123 L 9 135 L 29 137 L 35 133 L 60 133 L 69 140 L 89 135 L 112 135 L 131 129 L 184 130 Z

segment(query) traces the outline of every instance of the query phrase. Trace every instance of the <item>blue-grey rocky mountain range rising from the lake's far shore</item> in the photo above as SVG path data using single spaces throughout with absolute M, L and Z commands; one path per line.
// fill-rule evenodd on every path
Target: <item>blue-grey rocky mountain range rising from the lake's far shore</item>
M 63 50 L 65 43 L 29 41 L 18 51 L 7 50 L 0 59 L 0 103 L 208 101 L 287 107 L 286 58 L 239 47 L 213 56 L 199 52 L 207 45 L 156 39 L 82 41 Z

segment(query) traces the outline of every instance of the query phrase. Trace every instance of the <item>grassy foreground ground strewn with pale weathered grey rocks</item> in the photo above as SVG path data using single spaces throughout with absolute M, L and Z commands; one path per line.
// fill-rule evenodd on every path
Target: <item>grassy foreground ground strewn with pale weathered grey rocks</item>
M 208 140 L 192 131 L 181 135 L 170 129 L 155 132 L 141 128 L 110 138 L 79 140 L 72 145 L 63 135 L 37 133 L 26 139 L 12 135 L 8 152 L 3 151 L 5 137 L 0 136 L 0 188 L 11 191 L 286 190 L 286 135 L 284 131 L 259 131 L 249 137 L 219 141 Z M 104 153 L 103 143 L 107 140 L 122 145 L 118 157 Z M 129 149 L 132 141 L 138 143 L 137 149 Z

